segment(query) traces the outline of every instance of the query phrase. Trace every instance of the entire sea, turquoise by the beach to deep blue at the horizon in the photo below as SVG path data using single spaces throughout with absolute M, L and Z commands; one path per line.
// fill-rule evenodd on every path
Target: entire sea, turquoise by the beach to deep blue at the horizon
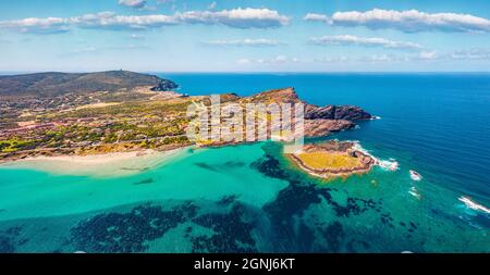
M 0 251 L 490 252 L 489 214 L 458 200 L 490 207 L 490 75 L 161 76 L 191 95 L 291 86 L 309 103 L 359 105 L 381 120 L 328 138 L 400 170 L 324 183 L 272 142 L 186 150 L 119 178 L 1 168 Z

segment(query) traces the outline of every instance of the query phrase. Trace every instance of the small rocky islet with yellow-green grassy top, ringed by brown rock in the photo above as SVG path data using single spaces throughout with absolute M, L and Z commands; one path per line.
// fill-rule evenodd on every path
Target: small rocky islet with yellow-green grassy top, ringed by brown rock
M 287 157 L 309 175 L 327 179 L 367 173 L 376 164 L 373 158 L 357 150 L 352 141 L 306 145 L 303 151 Z

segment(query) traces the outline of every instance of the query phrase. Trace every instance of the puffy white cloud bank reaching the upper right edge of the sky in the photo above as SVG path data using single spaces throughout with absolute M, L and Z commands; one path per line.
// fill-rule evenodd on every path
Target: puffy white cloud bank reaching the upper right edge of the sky
M 309 14 L 305 20 L 322 21 L 334 26 L 365 26 L 371 29 L 393 28 L 405 33 L 416 32 L 471 32 L 489 33 L 490 21 L 461 13 L 426 13 L 417 10 L 394 11 L 373 9 L 366 12 L 335 12 L 328 17 Z

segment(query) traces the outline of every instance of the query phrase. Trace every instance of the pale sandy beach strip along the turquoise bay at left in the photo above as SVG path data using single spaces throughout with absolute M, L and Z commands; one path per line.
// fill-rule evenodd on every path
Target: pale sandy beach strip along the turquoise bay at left
M 32 157 L 5 162 L 0 168 L 29 168 L 56 175 L 119 177 L 138 174 L 182 155 L 187 148 L 140 150 L 91 155 Z

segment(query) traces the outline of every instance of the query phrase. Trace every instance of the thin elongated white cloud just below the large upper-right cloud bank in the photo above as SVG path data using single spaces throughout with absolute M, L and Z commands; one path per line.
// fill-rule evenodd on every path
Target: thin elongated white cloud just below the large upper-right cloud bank
M 385 49 L 402 49 L 402 50 L 420 50 L 424 47 L 414 42 L 404 42 L 388 40 L 378 37 L 357 37 L 352 35 L 342 36 L 322 36 L 309 39 L 310 43 L 320 46 L 363 46 L 363 47 L 382 47 Z

